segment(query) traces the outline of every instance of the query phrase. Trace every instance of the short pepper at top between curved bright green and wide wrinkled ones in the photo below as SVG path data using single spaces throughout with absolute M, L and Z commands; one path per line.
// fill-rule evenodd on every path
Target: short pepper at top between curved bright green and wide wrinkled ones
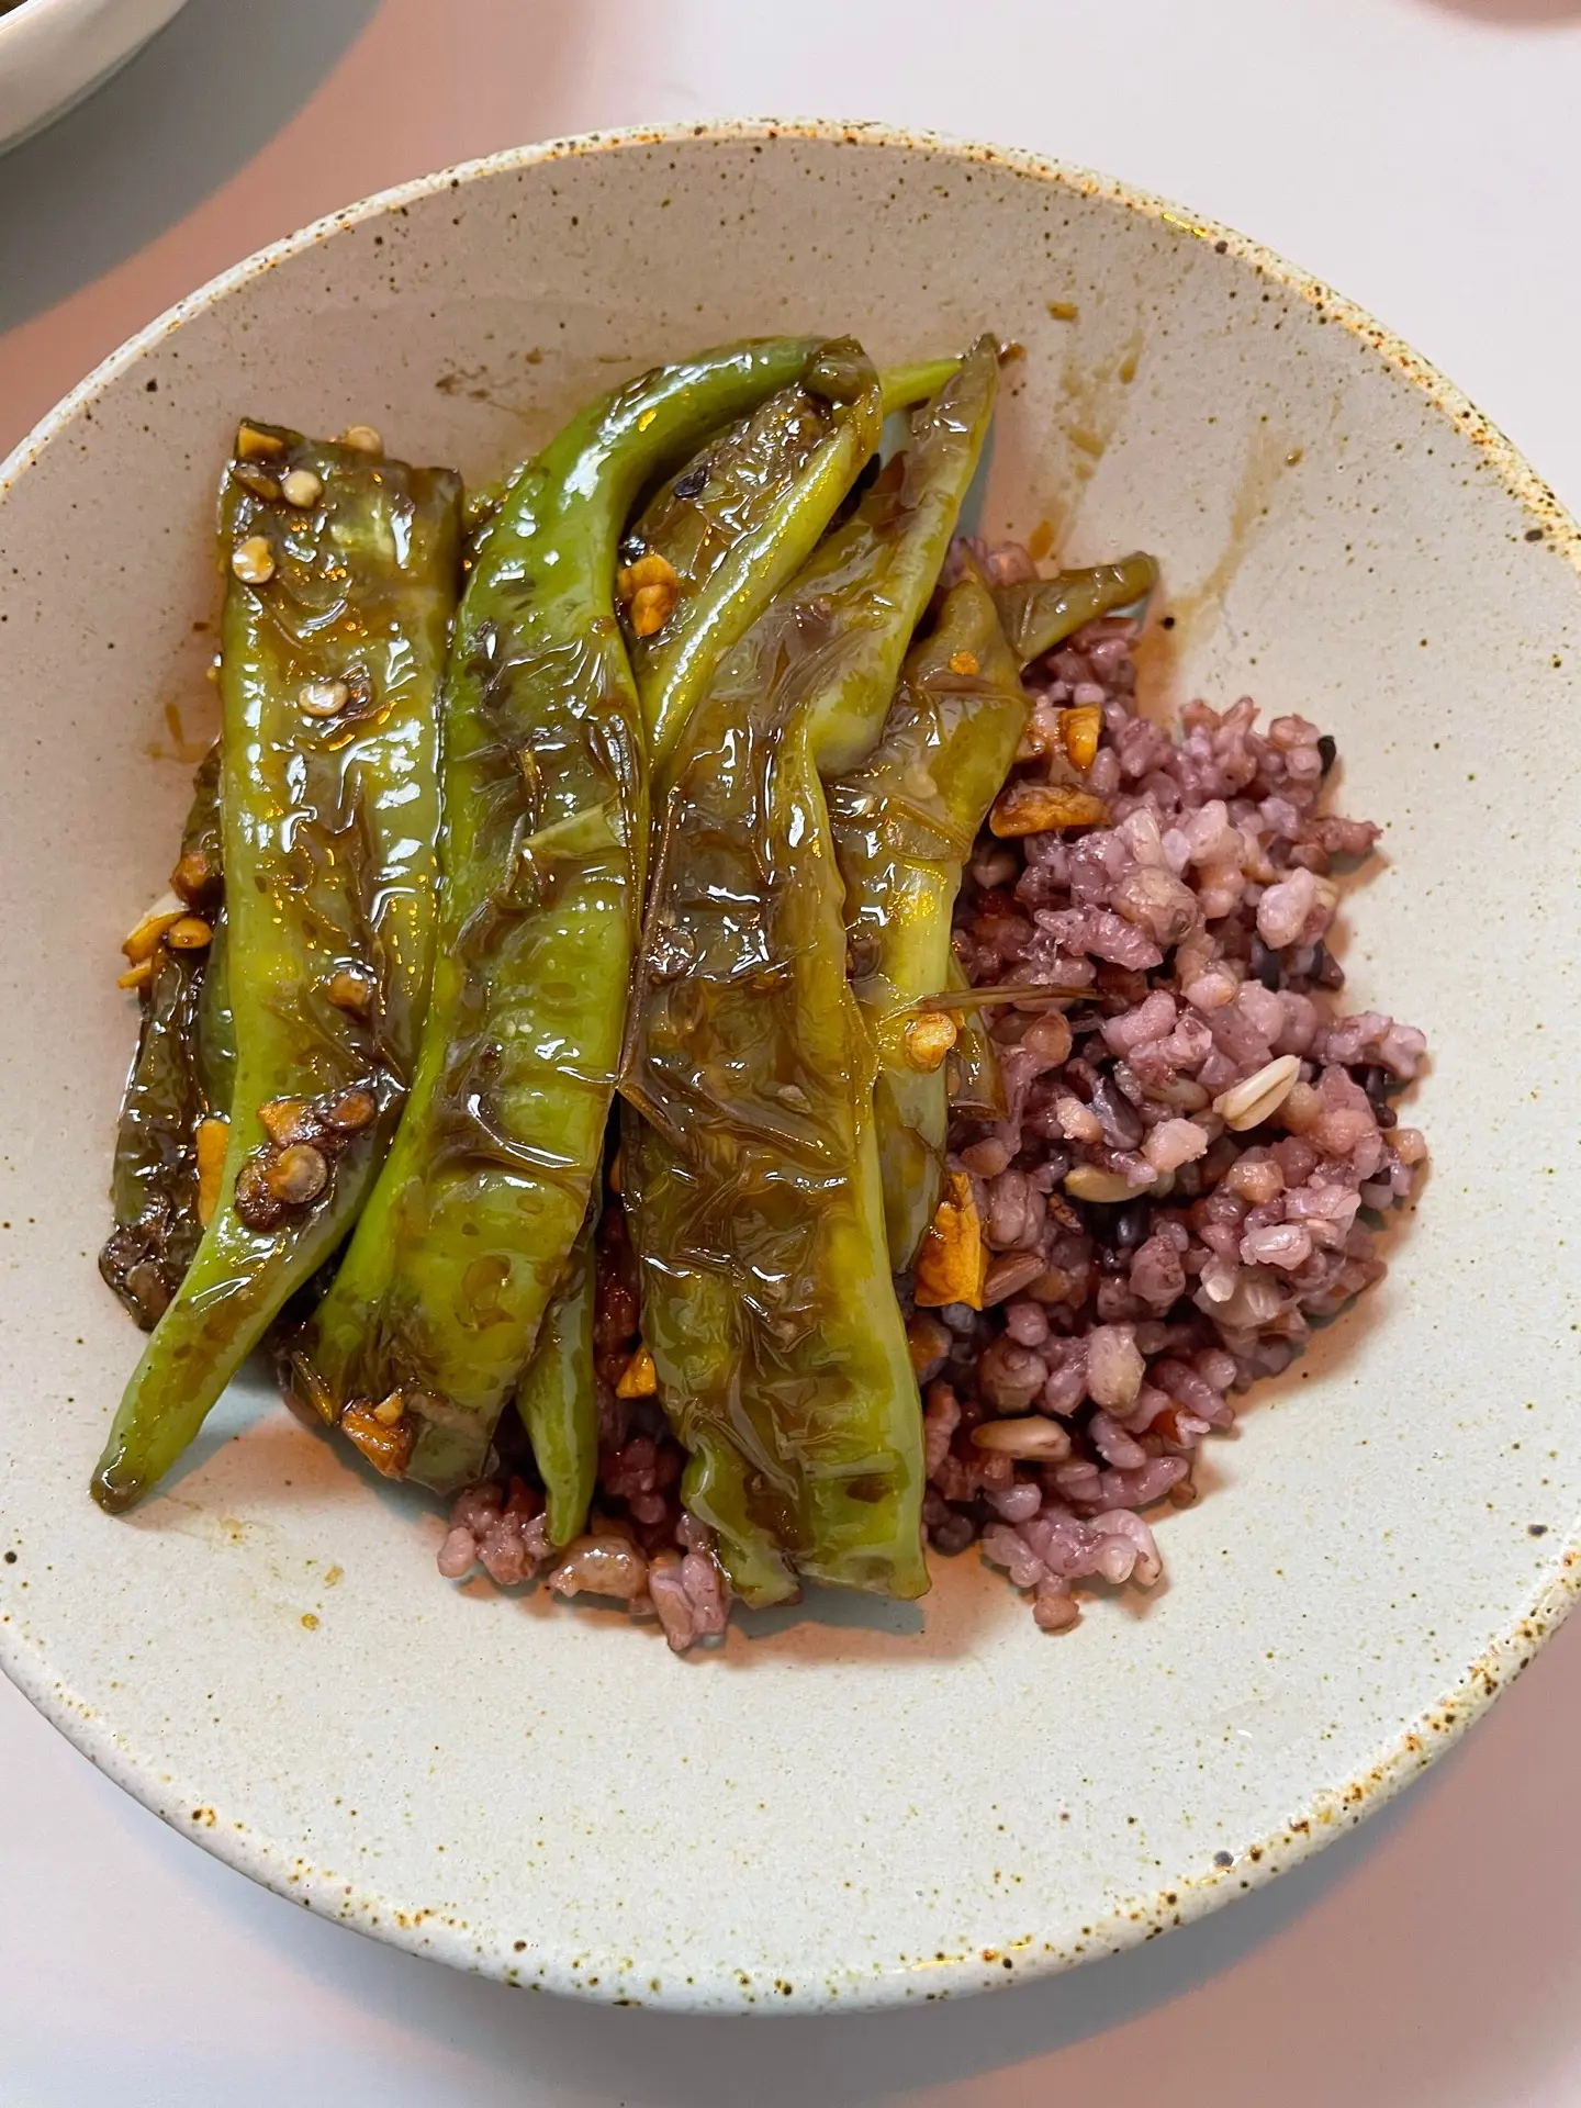
M 850 401 L 850 339 L 826 344 L 803 382 L 769 396 L 672 476 L 622 544 L 632 582 L 624 603 L 626 645 L 664 774 L 677 736 L 729 647 L 812 557 L 858 470 L 877 447 L 866 422 L 839 417 Z M 904 367 L 881 377 L 904 407 L 940 388 L 959 360 Z M 932 386 L 930 386 L 932 384 Z M 672 582 L 643 592 L 643 559 L 660 559 Z

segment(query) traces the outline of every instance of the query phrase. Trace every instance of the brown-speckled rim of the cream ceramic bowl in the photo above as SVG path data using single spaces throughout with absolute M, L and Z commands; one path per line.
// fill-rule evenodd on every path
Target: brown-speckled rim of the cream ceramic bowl
M 137 331 L 137 335 L 129 337 L 116 352 L 101 360 L 101 365 L 97 365 L 86 379 L 63 396 L 61 403 L 57 403 L 55 409 L 48 411 L 38 426 L 34 426 L 27 438 L 23 438 L 4 462 L 0 462 L 0 502 L 4 502 L 19 476 L 32 468 L 44 447 L 48 447 L 48 443 L 72 424 L 76 413 L 84 405 L 97 401 L 114 379 L 118 379 L 143 356 L 143 352 L 162 344 L 183 323 L 217 306 L 238 287 L 261 278 L 266 272 L 274 270 L 276 264 L 285 264 L 289 257 L 301 255 L 348 228 L 403 211 L 415 200 L 428 198 L 436 192 L 457 190 L 464 183 L 504 175 L 514 169 L 529 169 L 540 162 L 590 154 L 620 154 L 626 148 L 645 145 L 772 139 L 803 139 L 858 150 L 866 145 L 902 148 L 909 152 L 949 156 L 961 162 L 1010 169 L 1012 173 L 1033 177 L 1039 183 L 1062 186 L 1079 196 L 1107 198 L 1113 204 L 1121 204 L 1130 213 L 1140 213 L 1145 219 L 1170 226 L 1185 236 L 1193 236 L 1195 240 L 1210 242 L 1221 255 L 1237 257 L 1258 276 L 1269 278 L 1294 293 L 1299 299 L 1305 299 L 1322 320 L 1349 331 L 1349 335 L 1372 350 L 1385 367 L 1419 388 L 1429 405 L 1448 424 L 1452 424 L 1461 436 L 1482 449 L 1509 495 L 1516 497 L 1518 504 L 1530 514 L 1535 531 L 1528 529 L 1528 540 L 1545 542 L 1547 550 L 1562 557 L 1581 580 L 1581 529 L 1564 506 L 1560 506 L 1554 491 L 1522 460 L 1516 447 L 1511 447 L 1503 432 L 1499 432 L 1499 428 L 1492 426 L 1482 411 L 1478 411 L 1476 405 L 1469 403 L 1459 388 L 1455 388 L 1452 382 L 1429 365 L 1429 360 L 1425 360 L 1381 323 L 1374 323 L 1372 316 L 1353 301 L 1330 291 L 1330 287 L 1322 285 L 1309 272 L 1286 264 L 1282 257 L 1263 249 L 1258 242 L 1248 240 L 1244 234 L 1237 234 L 1233 228 L 1202 219 L 1197 213 L 1185 211 L 1185 207 L 1170 204 L 1168 200 L 1145 190 L 1132 190 L 1130 183 L 1096 175 L 1090 169 L 1069 167 L 1067 162 L 1050 160 L 1024 148 L 978 145 L 963 139 L 951 139 L 940 133 L 833 118 L 725 118 L 710 122 L 637 124 L 616 131 L 580 133 L 569 139 L 548 139 L 538 145 L 510 148 L 502 154 L 487 154 L 479 160 L 457 162 L 451 169 L 441 169 L 434 175 L 417 177 L 415 181 L 401 183 L 392 190 L 375 192 L 371 198 L 363 198 L 360 202 L 337 213 L 329 213 L 299 232 L 289 234 L 285 240 L 272 242 L 268 249 L 259 249 L 255 255 L 232 266 L 232 270 L 221 272 L 217 278 L 211 278 L 204 287 L 190 293 L 186 299 L 179 299 L 173 308 L 167 308 L 164 314 L 152 320 L 145 329 Z M 1516 1676 L 1520 1676 L 1537 1648 L 1543 1646 L 1543 1642 L 1549 1640 L 1551 1634 L 1564 1623 L 1579 1592 L 1581 1520 L 1564 1539 L 1558 1570 L 1554 1570 L 1549 1579 L 1545 1579 L 1543 1585 L 1526 1598 L 1524 1608 L 1518 1611 L 1499 1638 L 1476 1661 L 1469 1661 L 1455 1682 L 1448 1684 L 1442 1697 L 1410 1720 L 1393 1743 L 1366 1771 L 1332 1785 L 1318 1788 L 1311 1796 L 1311 1815 L 1269 1832 L 1261 1842 L 1244 1847 L 1229 1866 L 1216 1866 L 1210 1861 L 1199 1872 L 1185 1874 L 1170 1889 L 1138 1893 L 1136 1897 L 1115 1904 L 1107 1916 L 1094 1920 L 1092 1927 L 1086 1929 L 1088 1937 L 1084 1941 L 1081 1956 L 1077 1958 L 1048 1950 L 1039 1954 L 1029 1941 L 1018 1941 L 1020 1952 L 1016 1954 L 1014 1971 L 1001 1971 L 1001 1967 L 997 1967 L 1001 1956 L 993 1948 L 946 1956 L 930 1967 L 928 1996 L 940 1998 L 949 1994 L 1001 1988 L 1006 1984 L 1022 1984 L 1039 1975 L 1052 1975 L 1075 1967 L 1079 1960 L 1117 1954 L 1126 1948 L 1140 1946 L 1140 1941 L 1155 1937 L 1159 1931 L 1206 1916 L 1221 1904 L 1227 1904 L 1250 1889 L 1263 1887 L 1263 1882 L 1271 1880 L 1275 1874 L 1284 1874 L 1290 1868 L 1301 1866 L 1303 1859 L 1320 1851 L 1343 1830 L 1364 1821 L 1431 1762 L 1444 1756 L 1444 1752 L 1459 1741 L 1471 1722 L 1488 1710 L 1495 1697 L 1499 1697 L 1499 1693 L 1507 1689 Z M 215 1823 L 194 1828 L 190 1819 L 190 1811 L 194 1807 L 190 1790 L 183 1790 L 179 1781 L 162 1779 L 152 1760 L 139 1760 L 120 1748 L 110 1724 L 101 1720 L 97 1712 L 82 1707 L 74 1693 L 51 1678 L 48 1663 L 36 1653 L 23 1651 L 19 1636 L 8 1638 L 4 1627 L 0 1627 L 0 1670 L 4 1670 L 23 1697 L 27 1697 L 44 1714 L 44 1718 L 67 1737 L 67 1741 L 72 1741 L 99 1771 L 103 1771 L 105 1777 L 114 1779 L 116 1785 L 122 1785 L 129 1794 L 141 1800 L 143 1807 L 152 1809 L 160 1821 L 179 1830 L 183 1836 L 196 1838 L 204 1851 L 213 1853 L 213 1857 L 221 1859 L 226 1866 L 236 1868 L 236 1872 L 274 1889 L 276 1895 L 282 1895 L 293 1904 L 308 1906 L 323 1916 L 348 1922 L 356 1931 L 367 1931 L 373 1939 L 384 1939 L 390 1946 L 405 1948 L 413 1954 L 426 1954 L 434 1960 L 443 1960 L 451 1967 L 468 1969 L 479 1975 L 491 1975 L 497 1979 L 514 1977 L 516 1956 L 506 1944 L 497 1950 L 481 1946 L 474 1933 L 445 1927 L 422 1906 L 405 1901 L 392 1904 L 388 1897 L 358 1897 L 354 1901 L 365 1901 L 369 1908 L 354 1910 L 348 1916 L 346 1885 L 341 1880 L 329 1880 L 320 1874 L 304 1874 L 301 1861 L 293 1861 L 285 1847 L 272 1847 L 266 1838 L 251 1832 L 238 1834 L 230 1826 Z M 369 1927 L 367 1916 L 373 1910 L 377 1910 L 377 1925 Z M 554 1969 L 550 1963 L 548 1973 L 540 1982 L 546 1990 L 575 1992 L 599 2003 L 607 2003 L 616 1996 L 613 1986 L 620 1982 L 618 1973 L 605 1975 L 605 1982 L 611 1984 L 609 1992 L 590 1990 L 588 1975 L 605 1973 L 586 1969 L 571 1973 L 569 1969 Z M 651 2003 L 681 2011 L 708 2009 L 713 2005 L 710 1994 L 715 1990 L 715 1984 L 687 1984 L 681 1994 L 666 1990 Z M 841 2011 L 852 2011 L 854 2007 L 900 2005 L 909 1996 L 915 1996 L 915 1992 L 917 1986 L 911 1971 L 883 1971 L 854 1994 L 847 1992 L 839 2000 L 812 1992 L 805 1998 L 795 1998 L 793 2007 L 807 2011 L 833 2007 L 837 2003 Z M 620 2003 L 632 2000 L 620 1998 Z M 750 2007 L 746 2007 L 746 2011 L 750 2011 Z M 780 2007 L 780 2011 L 784 2011 L 784 2007 Z

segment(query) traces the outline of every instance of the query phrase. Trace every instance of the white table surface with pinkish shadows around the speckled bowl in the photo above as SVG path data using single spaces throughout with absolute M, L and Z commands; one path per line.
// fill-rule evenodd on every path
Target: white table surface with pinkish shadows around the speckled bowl
M 171 299 L 358 194 L 769 110 L 1033 145 L 1240 226 L 1581 510 L 1581 0 L 192 0 L 0 160 L 0 453 Z M 0 2108 L 1575 2108 L 1579 1720 L 1581 1621 L 1425 1785 L 1204 1925 L 995 1998 L 753 2024 L 527 1998 L 323 1925 L 0 1682 Z

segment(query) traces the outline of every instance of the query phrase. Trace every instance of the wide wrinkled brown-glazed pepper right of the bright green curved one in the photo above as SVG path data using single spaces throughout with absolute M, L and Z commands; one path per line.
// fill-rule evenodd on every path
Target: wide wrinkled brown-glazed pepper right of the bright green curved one
M 993 388 L 980 346 L 729 653 L 664 822 L 622 1079 L 641 1113 L 626 1204 L 683 1497 L 750 1604 L 797 1577 L 928 1587 L 873 1048 L 818 769 L 850 767 L 883 725 Z

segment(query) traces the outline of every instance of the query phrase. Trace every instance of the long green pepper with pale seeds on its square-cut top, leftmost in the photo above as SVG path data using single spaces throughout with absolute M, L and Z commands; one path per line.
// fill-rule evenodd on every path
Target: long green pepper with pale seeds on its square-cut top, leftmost
M 346 1235 L 396 1124 L 432 959 L 460 502 L 447 470 L 238 432 L 219 668 L 230 1143 L 99 1459 L 103 1507 L 137 1501 L 196 1436 Z

